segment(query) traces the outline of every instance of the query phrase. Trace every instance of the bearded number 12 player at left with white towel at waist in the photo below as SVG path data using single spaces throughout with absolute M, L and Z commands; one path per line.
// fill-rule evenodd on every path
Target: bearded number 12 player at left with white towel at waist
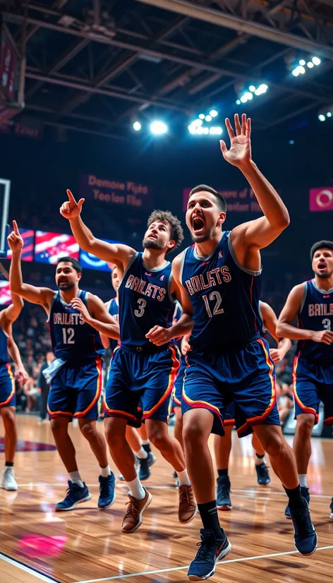
M 56 504 L 56 510 L 73 510 L 78 504 L 90 500 L 91 494 L 81 479 L 75 459 L 75 448 L 68 435 L 68 423 L 78 419 L 80 431 L 88 440 L 100 467 L 100 495 L 98 507 L 111 506 L 114 502 L 114 474 L 107 461 L 107 447 L 104 437 L 97 431 L 97 404 L 102 391 L 102 354 L 104 349 L 99 334 L 85 323 L 75 309 L 74 298 L 78 296 L 87 306 L 91 316 L 104 322 L 104 332 L 119 335 L 119 327 L 107 313 L 104 303 L 79 289 L 82 276 L 80 263 L 72 257 L 61 257 L 56 265 L 55 293 L 47 287 L 35 287 L 23 283 L 20 255 L 23 239 L 13 222 L 13 232 L 8 236 L 8 244 L 13 251 L 10 269 L 10 283 L 13 293 L 39 303 L 47 312 L 50 324 L 52 346 L 56 359 L 47 372 L 52 379 L 48 406 L 51 428 L 56 448 L 68 474 L 66 498 Z M 45 371 L 44 371 L 45 373 Z

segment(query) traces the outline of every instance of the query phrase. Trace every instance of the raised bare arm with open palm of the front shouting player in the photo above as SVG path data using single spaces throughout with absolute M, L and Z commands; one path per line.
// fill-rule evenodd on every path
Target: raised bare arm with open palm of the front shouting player
M 226 130 L 230 138 L 230 148 L 228 150 L 226 143 L 221 140 L 224 160 L 241 170 L 265 215 L 236 227 L 232 232 L 232 244 L 234 248 L 240 244 L 245 248 L 267 247 L 288 227 L 288 210 L 272 184 L 263 176 L 252 160 L 251 120 L 246 119 L 246 114 L 243 114 L 240 121 L 238 114 L 236 114 L 235 129 L 232 128 L 229 119 L 226 119 Z

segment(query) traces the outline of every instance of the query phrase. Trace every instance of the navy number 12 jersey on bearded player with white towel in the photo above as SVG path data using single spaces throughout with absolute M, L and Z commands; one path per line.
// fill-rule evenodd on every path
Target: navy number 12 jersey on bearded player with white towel
M 87 306 L 87 291 L 80 289 L 78 297 Z M 49 315 L 52 347 L 58 359 L 96 359 L 104 354 L 99 332 L 83 322 L 80 312 L 65 303 L 60 292 L 54 296 Z

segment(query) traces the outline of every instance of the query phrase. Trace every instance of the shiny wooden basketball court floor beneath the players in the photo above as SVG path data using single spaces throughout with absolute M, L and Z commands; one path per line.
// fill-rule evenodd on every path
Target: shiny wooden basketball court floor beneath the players
M 99 424 L 102 429 L 102 423 Z M 21 440 L 52 444 L 49 423 L 18 416 Z M 0 432 L 1 435 L 1 432 Z M 92 500 L 71 512 L 55 513 L 63 498 L 66 473 L 56 451 L 22 451 L 16 457 L 17 493 L 0 491 L 0 583 L 185 582 L 197 551 L 200 519 L 177 520 L 178 493 L 172 470 L 157 454 L 146 482 L 153 499 L 135 534 L 121 534 L 126 487 L 116 486 L 116 502 L 97 510 L 98 471 L 95 458 L 71 427 L 83 479 Z M 27 444 L 25 444 L 27 445 Z M 23 447 L 24 449 L 24 447 Z M 25 447 L 28 449 L 28 447 Z M 156 452 L 155 452 L 156 454 Z M 4 454 L 0 454 L 1 466 Z M 333 578 L 333 440 L 313 440 L 310 503 L 317 527 L 317 552 L 304 558 L 293 547 L 290 521 L 284 518 L 286 495 L 272 475 L 270 486 L 256 485 L 250 438 L 234 434 L 231 457 L 231 512 L 220 512 L 232 543 L 230 555 L 212 578 L 219 583 L 324 583 Z

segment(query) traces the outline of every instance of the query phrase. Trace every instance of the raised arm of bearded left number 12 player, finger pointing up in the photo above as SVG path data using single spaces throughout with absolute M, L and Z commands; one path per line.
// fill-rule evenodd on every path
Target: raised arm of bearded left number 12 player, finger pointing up
M 44 309 L 49 312 L 49 306 L 52 303 L 54 297 L 54 291 L 48 287 L 35 287 L 34 285 L 23 283 L 22 270 L 21 270 L 21 253 L 23 248 L 23 239 L 20 236 L 18 230 L 18 225 L 16 221 L 13 221 L 13 231 L 8 235 L 8 245 L 13 252 L 13 257 L 11 259 L 11 268 L 9 270 L 9 284 L 11 286 L 11 293 L 13 294 L 13 315 L 16 315 L 11 321 L 13 322 L 18 317 L 20 313 L 18 308 L 20 304 L 15 296 L 20 296 L 32 303 L 40 303 Z M 11 307 L 11 306 L 9 306 Z M 22 309 L 22 306 L 20 307 Z

